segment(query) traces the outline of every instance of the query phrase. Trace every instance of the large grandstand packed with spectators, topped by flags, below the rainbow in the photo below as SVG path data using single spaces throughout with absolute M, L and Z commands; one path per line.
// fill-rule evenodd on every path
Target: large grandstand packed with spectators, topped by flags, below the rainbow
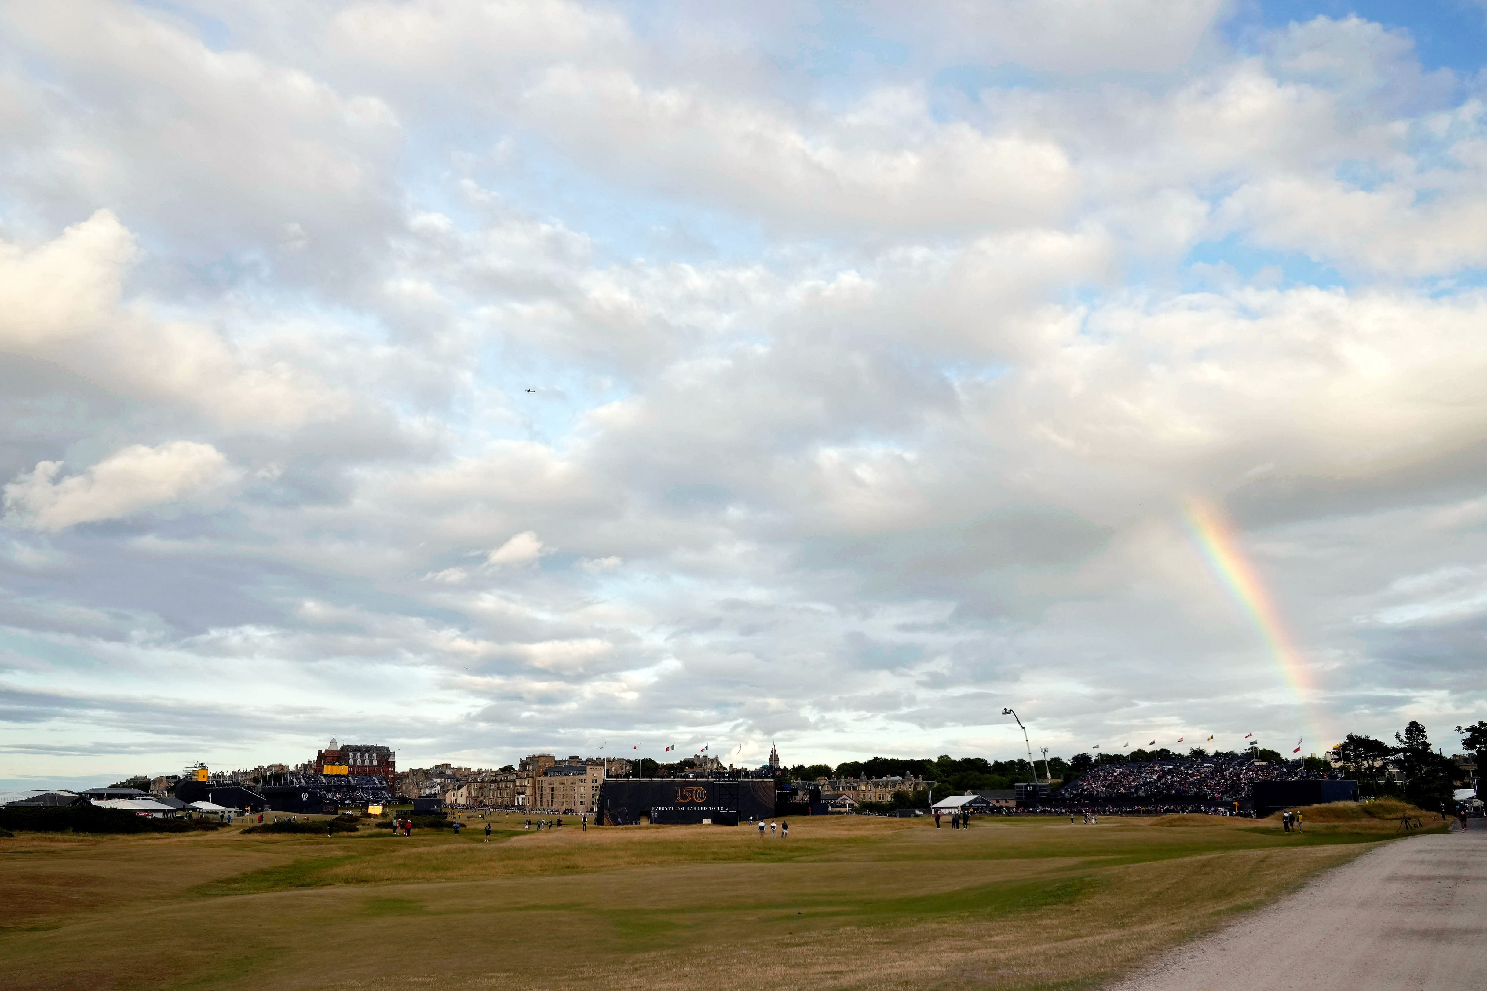
M 1100 764 L 1065 784 L 1051 804 L 1062 808 L 1141 808 L 1145 811 L 1249 811 L 1261 782 L 1337 779 L 1307 771 L 1301 762 L 1261 762 L 1249 755 L 1175 758 Z

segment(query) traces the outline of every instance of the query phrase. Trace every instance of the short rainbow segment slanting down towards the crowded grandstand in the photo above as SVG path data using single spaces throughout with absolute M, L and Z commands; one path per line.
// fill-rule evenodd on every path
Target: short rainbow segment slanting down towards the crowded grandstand
M 1297 649 L 1280 621 L 1280 611 L 1276 609 L 1274 600 L 1271 600 L 1254 565 L 1240 550 L 1234 527 L 1216 507 L 1203 499 L 1188 499 L 1184 508 L 1188 526 L 1193 527 L 1193 535 L 1213 574 L 1234 596 L 1240 609 L 1254 621 L 1276 660 L 1276 667 L 1280 669 L 1280 676 L 1306 710 L 1307 722 L 1312 724 L 1312 744 L 1320 753 L 1328 746 L 1328 735 L 1316 715 L 1316 680 L 1301 658 L 1301 651 Z

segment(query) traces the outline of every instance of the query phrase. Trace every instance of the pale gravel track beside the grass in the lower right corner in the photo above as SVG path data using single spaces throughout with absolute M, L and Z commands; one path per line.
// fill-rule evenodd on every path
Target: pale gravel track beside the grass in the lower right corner
M 1472 829 L 1384 844 L 1109 991 L 1392 991 L 1484 979 L 1487 831 Z

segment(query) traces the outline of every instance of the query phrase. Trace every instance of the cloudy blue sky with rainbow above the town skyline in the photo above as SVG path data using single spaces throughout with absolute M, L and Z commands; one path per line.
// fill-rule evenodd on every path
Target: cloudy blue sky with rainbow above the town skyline
M 0 16 L 3 784 L 1487 718 L 1481 3 Z

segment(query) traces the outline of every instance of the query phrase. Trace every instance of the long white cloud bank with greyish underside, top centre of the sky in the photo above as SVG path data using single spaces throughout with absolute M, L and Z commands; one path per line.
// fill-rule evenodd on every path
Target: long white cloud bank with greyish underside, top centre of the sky
M 787 227 L 1028 224 L 1062 217 L 1078 192 L 1056 143 L 935 122 L 915 91 L 870 94 L 807 123 L 724 94 L 559 65 L 525 105 L 574 156 Z

